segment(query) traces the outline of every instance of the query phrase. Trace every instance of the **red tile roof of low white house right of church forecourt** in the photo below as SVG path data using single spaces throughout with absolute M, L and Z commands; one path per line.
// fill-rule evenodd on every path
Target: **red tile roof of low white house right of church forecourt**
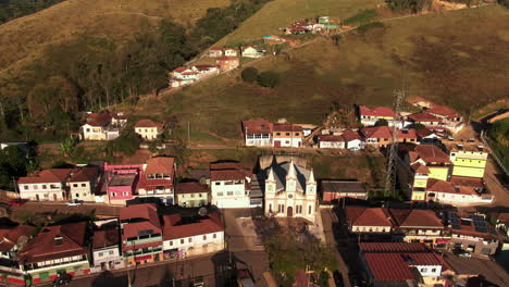
M 347 207 L 346 215 L 352 226 L 394 226 L 386 208 Z

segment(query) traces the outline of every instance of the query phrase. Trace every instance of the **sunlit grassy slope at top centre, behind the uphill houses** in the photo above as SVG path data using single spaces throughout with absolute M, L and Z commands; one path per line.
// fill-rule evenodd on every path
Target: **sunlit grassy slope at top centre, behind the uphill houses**
M 381 0 L 274 0 L 265 4 L 257 14 L 245 21 L 238 29 L 224 37 L 220 43 L 241 42 L 274 35 L 278 28 L 320 15 L 342 20 L 359 10 L 382 4 Z

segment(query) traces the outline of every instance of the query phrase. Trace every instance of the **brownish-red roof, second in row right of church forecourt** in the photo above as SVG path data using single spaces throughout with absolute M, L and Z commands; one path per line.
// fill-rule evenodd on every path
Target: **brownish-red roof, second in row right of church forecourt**
M 399 228 L 444 228 L 442 220 L 432 210 L 390 209 Z

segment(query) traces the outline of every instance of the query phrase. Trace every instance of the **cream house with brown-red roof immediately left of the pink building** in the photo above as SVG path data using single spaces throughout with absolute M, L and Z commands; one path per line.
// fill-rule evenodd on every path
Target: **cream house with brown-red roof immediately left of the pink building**
M 73 172 L 71 172 L 71 176 L 66 180 L 70 198 L 73 200 L 95 202 L 95 194 L 99 183 L 99 167 L 76 167 Z

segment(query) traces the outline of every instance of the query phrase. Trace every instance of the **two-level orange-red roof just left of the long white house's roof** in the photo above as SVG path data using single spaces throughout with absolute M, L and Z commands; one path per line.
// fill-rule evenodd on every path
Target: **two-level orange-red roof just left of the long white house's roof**
M 156 204 L 134 204 L 122 208 L 120 210 L 120 220 L 129 221 L 137 220 L 133 223 L 127 223 L 123 227 L 122 238 L 129 238 L 138 236 L 138 232 L 153 230 L 154 233 L 161 232 L 161 222 L 159 221 L 158 209 Z M 145 221 L 139 221 L 145 220 Z

